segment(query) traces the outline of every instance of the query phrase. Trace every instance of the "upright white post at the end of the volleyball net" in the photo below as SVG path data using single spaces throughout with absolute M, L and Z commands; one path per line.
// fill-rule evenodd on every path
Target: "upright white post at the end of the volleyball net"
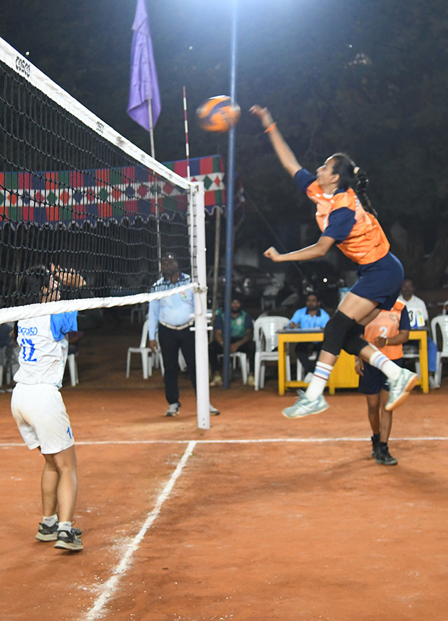
M 196 184 L 192 193 L 194 213 L 193 235 L 195 239 L 196 273 L 194 280 L 198 288 L 194 292 L 194 329 L 196 331 L 196 399 L 198 428 L 210 429 L 210 392 L 208 383 L 208 338 L 207 338 L 207 268 L 205 265 L 205 206 L 204 184 Z M 192 266 L 194 265 L 192 263 Z

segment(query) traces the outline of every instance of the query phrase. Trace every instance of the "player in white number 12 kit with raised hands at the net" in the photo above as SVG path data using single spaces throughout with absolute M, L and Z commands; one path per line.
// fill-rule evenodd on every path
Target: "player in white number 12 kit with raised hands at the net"
M 28 270 L 22 288 L 37 293 L 35 302 L 59 299 L 59 284 L 83 286 L 72 271 L 50 272 L 43 266 Z M 33 300 L 34 301 L 34 300 Z M 59 393 L 68 353 L 67 333 L 77 331 L 77 311 L 21 319 L 17 324 L 20 346 L 17 385 L 11 410 L 29 449 L 45 457 L 41 479 L 43 520 L 36 539 L 55 541 L 54 547 L 83 549 L 81 531 L 72 526 L 77 500 L 77 458 L 72 426 Z

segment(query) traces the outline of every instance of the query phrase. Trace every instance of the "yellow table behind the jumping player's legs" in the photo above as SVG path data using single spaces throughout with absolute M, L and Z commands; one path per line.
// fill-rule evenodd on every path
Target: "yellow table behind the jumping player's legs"
M 420 357 L 421 380 L 417 385 L 422 387 L 423 393 L 429 392 L 428 380 L 428 348 L 425 330 L 411 330 L 409 341 L 418 341 L 418 354 Z M 297 380 L 286 380 L 286 346 L 287 343 L 312 343 L 323 341 L 323 331 L 307 332 L 285 330 L 278 333 L 278 394 L 284 395 L 286 388 L 306 388 L 308 384 Z M 340 352 L 332 374 L 329 376 L 328 389 L 330 395 L 334 395 L 336 388 L 358 388 L 358 375 L 355 372 L 354 356 L 345 351 Z

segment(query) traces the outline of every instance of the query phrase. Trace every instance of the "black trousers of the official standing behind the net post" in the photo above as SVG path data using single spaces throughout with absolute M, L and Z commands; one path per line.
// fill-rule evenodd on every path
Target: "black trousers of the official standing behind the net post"
M 173 330 L 159 324 L 159 344 L 165 367 L 165 397 L 169 404 L 179 402 L 179 349 L 187 364 L 188 377 L 196 391 L 196 356 L 194 332 L 190 328 Z

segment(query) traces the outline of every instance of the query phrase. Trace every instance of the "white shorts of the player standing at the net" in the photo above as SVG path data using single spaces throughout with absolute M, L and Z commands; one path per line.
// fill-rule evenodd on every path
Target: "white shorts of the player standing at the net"
M 70 419 L 57 386 L 17 384 L 12 391 L 11 411 L 28 449 L 54 455 L 73 446 Z

